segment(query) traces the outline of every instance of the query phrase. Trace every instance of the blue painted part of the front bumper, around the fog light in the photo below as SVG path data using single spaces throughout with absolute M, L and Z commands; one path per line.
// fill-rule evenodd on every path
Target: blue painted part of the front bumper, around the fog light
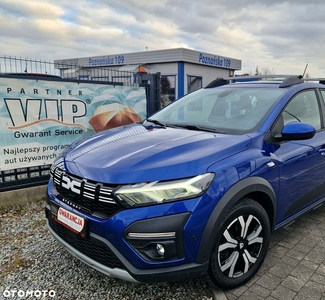
M 50 180 L 48 185 L 48 194 L 51 194 L 50 190 L 52 188 L 52 184 L 53 182 Z M 213 195 L 215 195 L 216 191 L 214 191 L 213 187 L 211 187 L 211 190 L 213 191 Z M 132 211 L 124 210 L 114 215 L 109 220 L 101 220 L 99 218 L 95 218 L 80 211 L 74 210 L 54 197 L 52 200 L 63 208 L 71 210 L 72 212 L 87 219 L 89 223 L 89 230 L 91 232 L 98 234 L 110 241 L 121 253 L 123 253 L 123 255 L 130 262 L 132 262 L 132 264 L 138 268 L 155 268 L 157 265 L 159 267 L 168 267 L 194 262 L 199 248 L 200 238 L 205 226 L 204 222 L 202 223 L 202 219 L 207 220 L 211 213 L 212 207 L 216 205 L 216 200 L 213 199 L 209 193 L 206 193 L 197 199 L 171 202 L 161 204 L 159 206 L 151 206 L 150 209 L 133 208 Z M 188 257 L 169 262 L 148 262 L 140 257 L 123 239 L 123 232 L 125 228 L 127 228 L 135 221 L 180 214 L 188 211 L 192 212 L 192 214 L 184 228 L 184 235 L 191 237 L 194 235 L 196 236 L 195 239 L 185 239 L 186 244 L 184 246 L 189 253 Z M 120 238 L 117 239 L 117 237 Z

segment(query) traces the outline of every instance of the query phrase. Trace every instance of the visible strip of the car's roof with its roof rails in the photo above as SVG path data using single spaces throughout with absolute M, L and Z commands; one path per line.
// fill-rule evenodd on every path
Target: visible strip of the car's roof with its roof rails
M 325 85 L 325 78 L 303 78 L 302 75 L 255 75 L 255 76 L 235 76 L 226 78 L 217 78 L 210 82 L 205 88 L 214 88 L 218 86 L 245 83 L 273 83 L 279 88 L 286 88 L 304 82 L 316 82 Z

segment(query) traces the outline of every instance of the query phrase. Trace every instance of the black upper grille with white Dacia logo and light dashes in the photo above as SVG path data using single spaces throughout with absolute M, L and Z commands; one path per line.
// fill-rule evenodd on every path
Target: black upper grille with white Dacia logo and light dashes
M 82 179 L 57 167 L 52 167 L 50 174 L 57 190 L 55 196 L 77 210 L 101 219 L 123 210 L 112 196 L 116 186 Z

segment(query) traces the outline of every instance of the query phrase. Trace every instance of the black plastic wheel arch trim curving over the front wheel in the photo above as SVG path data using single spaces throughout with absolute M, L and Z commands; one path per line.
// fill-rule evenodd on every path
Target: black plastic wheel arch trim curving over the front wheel
M 209 220 L 204 229 L 204 233 L 201 239 L 198 255 L 196 262 L 197 263 L 204 263 L 210 259 L 210 254 L 212 251 L 212 247 L 214 244 L 214 238 L 218 227 L 220 227 L 224 218 L 222 215 L 226 215 L 226 212 L 230 210 L 232 206 L 234 206 L 240 199 L 243 197 L 252 194 L 252 193 L 263 193 L 268 196 L 270 199 L 273 209 L 272 214 L 270 215 L 268 212 L 271 224 L 271 231 L 274 230 L 276 224 L 276 212 L 277 212 L 277 202 L 275 192 L 271 186 L 271 184 L 264 178 L 261 177 L 249 177 L 245 178 L 235 185 L 233 185 L 225 195 L 220 199 L 218 204 L 215 206 L 214 210 L 212 211 Z M 253 198 L 253 200 L 255 200 Z M 259 201 L 257 201 L 259 202 Z M 262 206 L 263 202 L 259 202 Z

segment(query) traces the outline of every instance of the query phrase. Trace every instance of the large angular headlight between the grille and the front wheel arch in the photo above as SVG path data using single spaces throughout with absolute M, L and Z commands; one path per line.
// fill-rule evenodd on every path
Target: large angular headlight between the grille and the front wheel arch
M 115 191 L 115 196 L 130 206 L 194 198 L 208 189 L 213 178 L 213 173 L 206 173 L 173 181 L 124 185 Z

